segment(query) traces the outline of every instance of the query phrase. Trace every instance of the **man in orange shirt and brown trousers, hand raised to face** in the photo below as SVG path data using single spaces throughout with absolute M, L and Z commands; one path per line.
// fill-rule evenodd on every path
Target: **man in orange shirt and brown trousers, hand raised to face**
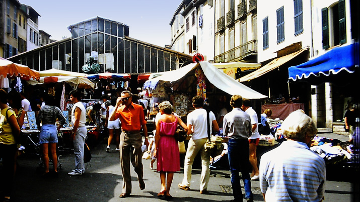
M 142 163 L 141 163 L 141 134 L 145 136 L 145 144 L 148 142 L 148 128 L 146 127 L 145 116 L 140 105 L 132 103 L 132 94 L 125 90 L 121 92 L 121 96 L 116 100 L 114 112 L 110 116 L 110 121 L 120 119 L 121 135 L 120 135 L 120 165 L 122 171 L 122 193 L 121 198 L 130 196 L 131 193 L 131 174 L 130 174 L 130 151 L 133 148 L 131 163 L 139 180 L 140 189 L 145 189 L 145 182 L 142 179 Z M 121 105 L 121 106 L 120 106 Z

